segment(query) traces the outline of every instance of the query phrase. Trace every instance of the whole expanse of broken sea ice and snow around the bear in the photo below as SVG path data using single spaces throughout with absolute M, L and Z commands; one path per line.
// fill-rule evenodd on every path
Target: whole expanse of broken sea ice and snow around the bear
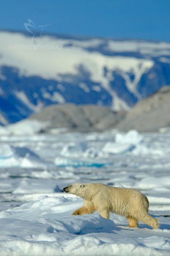
M 0 256 L 169 256 L 170 134 L 0 137 Z M 71 213 L 83 200 L 62 188 L 100 182 L 147 195 L 160 227 Z

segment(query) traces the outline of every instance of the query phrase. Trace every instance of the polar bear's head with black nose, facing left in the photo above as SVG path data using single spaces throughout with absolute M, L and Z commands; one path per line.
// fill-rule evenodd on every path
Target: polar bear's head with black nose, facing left
M 73 183 L 65 188 L 63 188 L 64 192 L 70 193 L 73 195 L 77 195 L 81 198 L 85 198 L 85 184 L 82 183 Z

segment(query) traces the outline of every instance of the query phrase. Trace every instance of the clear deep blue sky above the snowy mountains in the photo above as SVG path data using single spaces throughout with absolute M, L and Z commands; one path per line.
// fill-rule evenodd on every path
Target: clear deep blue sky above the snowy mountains
M 170 0 L 0 0 L 0 29 L 170 41 Z

